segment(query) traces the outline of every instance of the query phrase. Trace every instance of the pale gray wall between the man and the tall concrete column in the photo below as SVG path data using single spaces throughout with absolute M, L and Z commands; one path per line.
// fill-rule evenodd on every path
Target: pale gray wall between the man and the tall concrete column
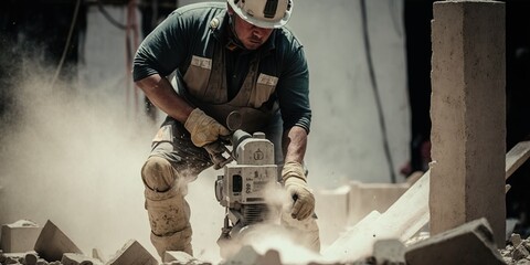
M 179 1 L 180 4 L 200 1 Z M 402 0 L 367 2 L 368 38 L 396 180 L 409 159 Z M 361 1 L 294 2 L 289 21 L 306 47 L 314 120 L 307 152 L 310 182 L 335 188 L 349 180 L 390 182 L 362 31 Z

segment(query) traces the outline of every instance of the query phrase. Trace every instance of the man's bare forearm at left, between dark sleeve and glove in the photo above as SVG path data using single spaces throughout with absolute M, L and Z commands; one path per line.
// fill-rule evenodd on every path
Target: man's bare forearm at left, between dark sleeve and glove
M 181 123 L 184 123 L 193 110 L 190 104 L 177 95 L 166 77 L 155 74 L 135 84 L 144 91 L 155 106 Z

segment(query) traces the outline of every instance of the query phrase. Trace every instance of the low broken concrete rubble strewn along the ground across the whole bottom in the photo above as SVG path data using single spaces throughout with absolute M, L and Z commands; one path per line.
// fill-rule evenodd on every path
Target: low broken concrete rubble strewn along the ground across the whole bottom
M 13 225 L 11 225 L 13 226 Z M 33 227 L 34 226 L 30 226 Z M 28 235 L 28 234 L 25 234 Z M 52 236 L 53 235 L 53 236 Z M 44 242 L 43 239 L 50 241 Z M 28 239 L 10 237 L 10 240 L 28 241 Z M 32 239 L 30 239 L 31 241 Z M 92 256 L 83 254 L 61 230 L 51 221 L 46 222 L 38 239 L 32 240 L 40 251 L 31 248 L 19 253 L 0 252 L 0 264 L 22 265 L 121 265 L 152 264 L 158 265 L 153 257 L 137 241 L 130 240 L 108 261 L 103 261 L 99 251 L 94 248 Z M 11 241 L 8 243 L 15 242 Z M 2 237 L 2 244 L 8 246 Z M 44 247 L 46 246 L 46 247 Z M 8 246 L 9 247 L 9 246 Z M 190 256 L 183 252 L 167 252 L 165 265 L 212 265 Z M 259 254 L 252 246 L 243 246 L 232 257 L 219 265 L 282 265 L 282 253 L 268 250 Z M 292 264 L 292 263 L 285 263 Z M 395 240 L 378 240 L 373 243 L 372 254 L 357 261 L 308 262 L 310 265 L 414 265 L 414 264 L 507 264 L 530 265 L 530 239 L 521 239 L 511 234 L 506 247 L 498 250 L 492 240 L 491 229 L 486 219 L 468 222 L 454 230 L 428 236 L 421 232 L 406 242 Z

